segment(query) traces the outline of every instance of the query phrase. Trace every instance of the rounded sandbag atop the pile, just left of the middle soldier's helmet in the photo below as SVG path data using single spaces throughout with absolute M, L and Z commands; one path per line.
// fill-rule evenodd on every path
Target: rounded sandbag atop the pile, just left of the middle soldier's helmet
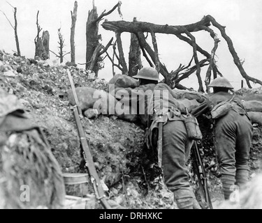
M 131 88 L 134 89 L 138 86 L 138 80 L 129 77 L 127 75 L 117 74 L 110 81 L 108 82 L 109 92 L 112 91 L 114 88 Z

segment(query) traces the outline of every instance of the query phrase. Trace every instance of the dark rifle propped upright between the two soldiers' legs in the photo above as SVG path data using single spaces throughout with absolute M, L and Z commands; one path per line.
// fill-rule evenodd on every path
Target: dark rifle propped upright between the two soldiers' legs
M 203 208 L 205 209 L 213 209 L 210 194 L 208 192 L 208 178 L 205 174 L 205 169 L 203 166 L 203 162 L 201 160 L 201 156 L 198 150 L 198 145 L 194 140 L 193 150 L 193 169 L 195 171 L 196 176 L 198 177 L 198 185 L 201 189 L 201 201 L 203 203 Z

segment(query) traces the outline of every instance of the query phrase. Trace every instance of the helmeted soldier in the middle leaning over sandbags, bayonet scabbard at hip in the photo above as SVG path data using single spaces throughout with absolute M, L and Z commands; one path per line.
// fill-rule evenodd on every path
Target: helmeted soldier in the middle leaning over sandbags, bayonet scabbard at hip
M 155 68 L 146 67 L 139 70 L 133 78 L 138 79 L 139 86 L 117 89 L 115 98 L 124 100 L 121 91 L 128 91 L 130 105 L 136 105 L 138 100 L 138 116 L 140 123 L 147 128 L 147 146 L 157 148 L 159 122 L 163 122 L 162 159 L 163 178 L 169 190 L 174 194 L 178 208 L 201 208 L 196 201 L 194 192 L 189 185 L 189 175 L 186 166 L 193 141 L 189 139 L 184 125 L 182 114 L 186 114 L 186 108 L 174 98 L 174 92 L 163 83 L 159 83 L 159 72 Z M 148 92 L 151 92 L 148 94 Z M 157 95 L 157 92 L 159 95 Z M 164 96 L 165 95 L 165 96 Z M 153 103 L 154 102 L 154 103 Z M 161 113 L 157 105 L 162 103 L 166 112 Z M 148 109 L 149 108 L 149 109 Z M 148 111 L 154 110 L 154 114 Z M 142 111 L 145 111 L 143 113 Z M 164 111 L 164 109 L 162 110 Z M 161 114 L 160 114 L 161 113 Z M 161 121 L 159 120 L 161 116 Z

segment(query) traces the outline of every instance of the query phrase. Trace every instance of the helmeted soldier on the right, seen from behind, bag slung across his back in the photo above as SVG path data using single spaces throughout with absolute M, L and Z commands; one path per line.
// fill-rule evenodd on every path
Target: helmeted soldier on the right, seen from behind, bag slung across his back
M 241 190 L 248 181 L 253 127 L 238 95 L 228 92 L 233 89 L 228 79 L 217 77 L 209 87 L 213 88 L 213 94 L 201 106 L 191 111 L 191 114 L 196 117 L 208 114 L 212 120 L 214 147 L 219 161 L 224 198 L 229 199 L 235 185 Z M 226 104 L 223 103 L 226 101 Z M 218 118 L 212 116 L 214 108 L 221 113 Z

